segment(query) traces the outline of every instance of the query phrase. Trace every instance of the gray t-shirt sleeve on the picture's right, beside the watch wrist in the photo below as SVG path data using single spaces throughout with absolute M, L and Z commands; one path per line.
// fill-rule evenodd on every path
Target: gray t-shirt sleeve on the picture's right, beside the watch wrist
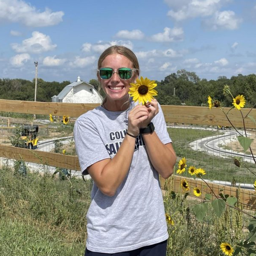
M 159 139 L 161 140 L 161 142 L 163 144 L 171 143 L 172 140 L 167 131 L 166 121 L 164 119 L 163 110 L 162 110 L 160 104 L 158 104 L 158 108 L 159 108 L 159 112 L 152 119 L 152 122 L 155 127 L 155 132 L 157 133 L 157 136 L 159 137 Z

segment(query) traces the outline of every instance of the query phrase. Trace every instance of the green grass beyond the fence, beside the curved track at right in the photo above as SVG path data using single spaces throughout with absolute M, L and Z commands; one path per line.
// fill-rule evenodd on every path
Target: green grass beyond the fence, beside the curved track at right
M 234 164 L 233 157 L 222 158 L 214 155 L 209 155 L 201 151 L 195 151 L 190 148 L 189 143 L 204 137 L 213 137 L 218 134 L 218 131 L 200 130 L 200 129 L 181 129 L 168 128 L 170 137 L 173 141 L 173 146 L 177 154 L 177 159 L 185 157 L 187 166 L 195 166 L 196 168 L 203 168 L 207 174 L 205 179 L 209 180 L 223 180 L 231 182 L 233 179 L 237 183 L 253 184 L 255 176 L 252 175 L 246 168 L 238 168 Z M 178 163 L 178 161 L 177 161 Z M 256 167 L 254 164 L 246 163 L 254 173 Z M 187 173 L 183 176 L 191 177 Z

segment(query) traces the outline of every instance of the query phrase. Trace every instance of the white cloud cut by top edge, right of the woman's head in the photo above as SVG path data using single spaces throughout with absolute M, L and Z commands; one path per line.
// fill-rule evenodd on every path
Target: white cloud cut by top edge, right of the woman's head
M 228 1 L 229 0 L 176 0 L 174 1 L 174 4 L 172 4 L 172 0 L 165 0 L 169 6 L 173 7 L 167 15 L 177 21 L 186 20 L 188 18 L 210 16 L 218 11 L 224 2 Z

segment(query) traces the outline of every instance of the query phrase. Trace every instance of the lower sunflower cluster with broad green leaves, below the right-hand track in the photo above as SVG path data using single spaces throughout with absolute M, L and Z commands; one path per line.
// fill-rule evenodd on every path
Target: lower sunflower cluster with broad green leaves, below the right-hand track
M 252 219 L 248 227 L 248 230 L 249 230 L 248 236 L 246 239 L 242 239 L 239 241 L 238 244 L 236 244 L 236 249 L 234 249 L 233 245 L 229 244 L 227 241 L 222 241 L 221 244 L 217 241 L 217 244 L 219 243 L 220 250 L 222 250 L 222 252 L 227 256 L 238 255 L 244 250 L 251 252 L 250 254 L 248 254 L 250 256 L 256 255 L 256 215 L 253 216 L 253 215 L 250 215 L 250 213 L 243 211 L 239 206 L 240 203 L 236 197 L 233 197 L 230 195 L 224 195 L 222 191 L 220 191 L 219 194 L 216 194 L 213 191 L 212 187 L 209 186 L 207 181 L 204 179 L 204 175 L 206 175 L 207 172 L 200 167 L 199 168 L 196 168 L 195 166 L 188 167 L 186 163 L 187 163 L 187 160 L 185 157 L 183 157 L 178 163 L 177 173 L 183 174 L 184 172 L 187 171 L 192 178 L 201 179 L 206 184 L 206 186 L 209 187 L 211 191 L 210 193 L 205 193 L 203 186 L 202 187 L 195 186 L 190 188 L 188 179 L 183 178 L 180 180 L 180 188 L 184 192 L 183 200 L 190 194 L 190 191 L 192 192 L 190 196 L 194 196 L 198 199 L 201 199 L 201 201 L 198 201 L 198 203 L 195 203 L 192 206 L 190 206 L 192 208 L 192 211 L 195 214 L 195 218 L 199 222 L 204 222 L 206 219 L 207 211 L 209 207 L 213 209 L 215 216 L 219 219 L 227 218 L 228 216 L 227 212 L 229 212 L 230 208 L 234 210 L 238 210 L 240 214 L 245 213 L 249 215 Z M 240 166 L 240 162 L 239 162 L 239 165 L 237 166 Z M 253 186 L 256 192 L 256 180 Z M 204 193 L 204 196 L 203 196 L 203 193 Z

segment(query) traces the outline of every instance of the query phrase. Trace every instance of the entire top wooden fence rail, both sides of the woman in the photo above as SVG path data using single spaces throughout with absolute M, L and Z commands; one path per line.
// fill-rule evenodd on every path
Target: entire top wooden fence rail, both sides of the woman
M 29 113 L 56 116 L 72 116 L 78 117 L 99 104 L 84 104 L 84 103 L 56 103 L 56 102 L 29 102 L 29 101 L 14 101 L 0 99 L 0 111 L 15 112 L 15 113 Z M 198 124 L 198 125 L 223 125 L 231 126 L 226 116 L 220 108 L 208 109 L 207 107 L 193 107 L 193 106 L 170 106 L 162 105 L 163 113 L 166 122 Z M 224 108 L 227 113 L 230 108 Z M 241 109 L 245 116 L 250 109 Z M 237 109 L 232 109 L 228 114 L 230 121 L 235 127 L 242 127 L 243 122 L 241 113 Z M 256 119 L 256 109 L 250 112 L 250 116 Z M 250 119 L 245 119 L 245 126 L 247 128 L 256 128 L 255 123 Z

